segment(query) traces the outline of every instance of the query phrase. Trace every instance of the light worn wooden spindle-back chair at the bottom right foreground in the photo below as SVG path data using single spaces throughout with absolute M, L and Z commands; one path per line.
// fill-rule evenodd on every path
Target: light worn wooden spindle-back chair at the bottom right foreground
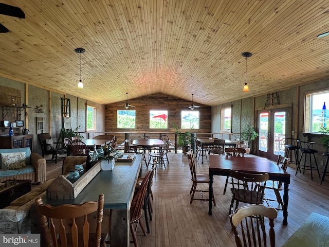
M 275 247 L 274 219 L 277 216 L 278 212 L 275 208 L 265 207 L 264 205 L 250 205 L 237 209 L 234 214 L 230 215 L 236 246 L 268 246 L 264 219 L 268 218 L 269 244 L 271 247 Z M 238 230 L 240 230 L 240 234 Z

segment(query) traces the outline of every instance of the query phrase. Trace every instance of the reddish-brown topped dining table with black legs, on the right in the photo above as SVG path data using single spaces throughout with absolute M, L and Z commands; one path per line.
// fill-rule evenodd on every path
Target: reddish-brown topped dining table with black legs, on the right
M 209 155 L 209 195 L 213 192 L 213 176 L 228 176 L 230 170 L 249 173 L 268 173 L 269 180 L 283 182 L 283 224 L 287 225 L 288 218 L 288 185 L 290 174 L 273 162 L 259 156 L 234 157 L 226 155 Z M 209 196 L 209 215 L 212 215 L 212 197 Z

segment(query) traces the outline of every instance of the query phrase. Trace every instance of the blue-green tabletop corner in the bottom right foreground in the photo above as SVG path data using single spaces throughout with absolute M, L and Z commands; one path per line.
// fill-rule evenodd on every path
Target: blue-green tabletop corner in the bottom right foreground
M 329 218 L 310 214 L 282 247 L 329 246 Z

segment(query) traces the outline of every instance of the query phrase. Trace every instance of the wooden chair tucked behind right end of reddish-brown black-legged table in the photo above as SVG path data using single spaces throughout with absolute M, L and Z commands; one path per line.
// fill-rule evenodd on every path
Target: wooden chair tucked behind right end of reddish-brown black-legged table
M 284 171 L 286 171 L 287 170 L 287 167 L 288 167 L 288 164 L 289 164 L 289 161 L 290 161 L 289 158 L 286 158 L 284 156 L 279 155 L 278 156 L 277 165 L 278 166 L 281 165 L 281 169 L 283 169 Z M 283 208 L 283 201 L 282 201 L 282 198 L 281 198 L 281 195 L 280 195 L 280 191 L 283 189 L 282 188 L 282 182 L 279 182 L 279 181 L 268 181 L 266 183 L 265 189 L 268 189 L 268 190 L 271 189 L 271 190 L 273 190 L 274 193 L 275 193 L 275 195 L 276 195 L 276 198 L 277 198 L 277 200 L 275 200 L 275 199 L 269 199 L 269 198 L 264 198 L 264 200 L 266 201 L 267 205 L 269 206 L 268 201 L 278 202 L 279 205 L 278 205 L 277 209 L 278 210 L 282 210 L 282 208 Z M 280 208 L 280 206 L 281 206 L 281 208 Z

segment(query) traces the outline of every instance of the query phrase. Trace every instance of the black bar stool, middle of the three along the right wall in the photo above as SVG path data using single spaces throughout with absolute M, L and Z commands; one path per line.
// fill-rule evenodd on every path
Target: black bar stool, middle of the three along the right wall
M 315 158 L 315 153 L 317 153 L 318 151 L 313 149 L 313 144 L 315 144 L 315 142 L 302 142 L 301 140 L 297 140 L 297 143 L 298 143 L 298 150 L 300 152 L 302 152 L 302 154 L 300 155 L 299 164 L 298 164 L 295 176 L 297 175 L 298 169 L 300 170 L 300 167 L 302 167 L 303 168 L 303 174 L 305 173 L 305 170 L 310 170 L 310 178 L 312 180 L 313 180 L 313 173 L 312 173 L 313 170 L 317 170 L 318 174 L 319 174 L 319 178 L 321 178 L 319 168 L 318 168 L 318 164 L 317 164 L 317 160 Z M 304 154 L 305 154 L 304 164 L 301 165 L 302 157 L 303 157 Z M 313 154 L 316 167 L 312 166 L 311 154 Z M 309 165 L 306 165 L 306 156 L 307 155 L 309 155 Z

